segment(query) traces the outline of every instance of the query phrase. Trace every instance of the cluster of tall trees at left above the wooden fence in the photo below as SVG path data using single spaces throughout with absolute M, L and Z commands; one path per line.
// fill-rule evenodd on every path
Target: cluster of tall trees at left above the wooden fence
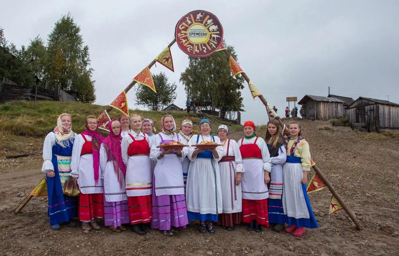
M 79 101 L 94 102 L 95 81 L 93 69 L 89 67 L 89 47 L 79 33 L 80 27 L 68 13 L 55 22 L 47 45 L 37 36 L 26 50 L 24 46 L 18 50 L 7 42 L 0 28 L 0 78 L 5 76 L 26 86 L 36 86 L 36 81 L 41 81 L 39 87 L 77 91 Z

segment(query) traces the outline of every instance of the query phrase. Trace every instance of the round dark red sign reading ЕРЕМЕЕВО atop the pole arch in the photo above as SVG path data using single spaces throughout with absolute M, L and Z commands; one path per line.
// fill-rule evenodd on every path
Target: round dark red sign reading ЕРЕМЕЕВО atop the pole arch
M 179 48 L 186 54 L 206 57 L 221 45 L 223 28 L 215 15 L 196 10 L 179 20 L 176 24 L 175 38 Z

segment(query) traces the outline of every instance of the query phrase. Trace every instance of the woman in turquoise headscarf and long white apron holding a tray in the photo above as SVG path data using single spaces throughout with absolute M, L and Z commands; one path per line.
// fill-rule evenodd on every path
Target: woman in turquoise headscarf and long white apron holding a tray
M 193 135 L 189 145 L 212 141 L 220 144 L 219 137 L 210 135 L 211 123 L 208 119 L 199 122 L 199 135 Z M 220 184 L 219 165 L 217 162 L 223 157 L 223 148 L 217 146 L 212 149 L 188 148 L 190 167 L 187 177 L 186 203 L 189 220 L 199 220 L 199 232 L 215 233 L 213 222 L 223 212 L 222 193 Z

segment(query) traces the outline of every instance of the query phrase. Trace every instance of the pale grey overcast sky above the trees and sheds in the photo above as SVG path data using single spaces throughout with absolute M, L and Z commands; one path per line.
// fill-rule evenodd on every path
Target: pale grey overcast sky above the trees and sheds
M 227 44 L 271 106 L 284 116 L 286 97 L 330 93 L 399 103 L 399 1 L 5 1 L 0 26 L 8 41 L 28 45 L 47 39 L 68 12 L 81 27 L 95 69 L 95 103 L 108 105 L 174 38 L 178 20 L 193 10 L 219 18 Z M 175 104 L 184 107 L 179 82 L 188 57 L 171 48 L 175 72 L 162 65 L 178 85 Z M 242 122 L 266 123 L 259 99 L 247 83 L 242 91 Z M 127 94 L 134 106 L 134 90 Z M 292 106 L 292 103 L 291 103 Z M 292 108 L 292 107 L 291 107 Z M 259 110 L 255 110 L 259 109 Z M 100 114 L 100 113 L 93 113 Z

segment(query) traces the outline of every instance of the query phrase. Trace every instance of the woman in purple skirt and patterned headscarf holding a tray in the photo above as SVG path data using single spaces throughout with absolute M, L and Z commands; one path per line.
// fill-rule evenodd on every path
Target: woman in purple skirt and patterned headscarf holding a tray
M 170 142 L 181 143 L 171 115 L 164 115 L 161 125 L 162 132 L 155 135 L 150 154 L 150 158 L 157 161 L 152 179 L 151 228 L 163 230 L 165 235 L 170 236 L 188 224 L 182 171 L 185 155 L 182 147 L 176 150 L 158 148 Z

